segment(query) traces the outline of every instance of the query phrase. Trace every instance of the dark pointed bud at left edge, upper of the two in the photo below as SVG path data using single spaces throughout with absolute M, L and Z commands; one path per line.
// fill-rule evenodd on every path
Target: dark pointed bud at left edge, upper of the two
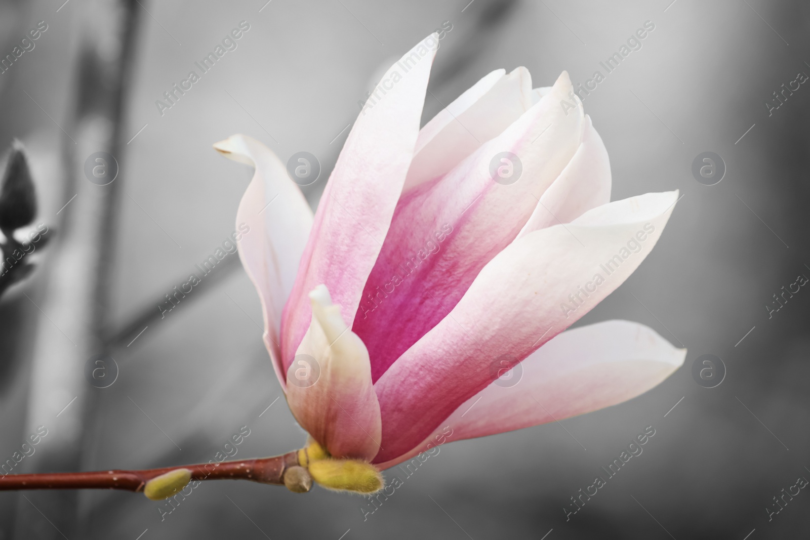
M 36 192 L 23 143 L 11 143 L 11 155 L 0 188 L 0 230 L 8 236 L 36 217 Z

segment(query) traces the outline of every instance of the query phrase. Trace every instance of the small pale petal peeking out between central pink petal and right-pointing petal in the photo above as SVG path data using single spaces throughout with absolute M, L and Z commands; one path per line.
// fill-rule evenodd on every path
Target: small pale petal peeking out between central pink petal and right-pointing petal
M 577 153 L 540 197 L 518 238 L 556 223 L 570 223 L 587 210 L 608 204 L 610 189 L 608 150 L 586 115 Z

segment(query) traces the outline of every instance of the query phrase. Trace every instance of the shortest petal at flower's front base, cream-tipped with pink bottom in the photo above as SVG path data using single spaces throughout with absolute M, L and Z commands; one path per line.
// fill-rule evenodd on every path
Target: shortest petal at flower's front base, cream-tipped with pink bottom
M 290 410 L 333 456 L 370 460 L 380 448 L 381 421 L 369 351 L 348 329 L 326 286 L 309 299 L 312 321 L 287 373 Z

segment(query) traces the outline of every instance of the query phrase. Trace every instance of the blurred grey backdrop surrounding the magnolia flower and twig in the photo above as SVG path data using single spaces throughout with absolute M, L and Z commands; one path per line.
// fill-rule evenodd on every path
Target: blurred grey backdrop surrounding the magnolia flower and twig
M 244 133 L 283 162 L 312 153 L 322 174 L 305 193 L 317 206 L 358 101 L 445 21 L 423 121 L 499 67 L 527 66 L 535 87 L 562 70 L 585 83 L 654 24 L 584 104 L 608 147 L 613 200 L 683 198 L 650 257 L 578 325 L 650 325 L 689 348 L 684 367 L 619 406 L 447 444 L 368 516 L 360 496 L 248 482 L 203 483 L 168 514 L 127 492 L 4 491 L 0 538 L 808 534 L 805 490 L 769 513 L 782 489 L 810 478 L 810 292 L 770 317 L 766 305 L 810 276 L 810 88 L 770 111 L 766 102 L 810 74 L 810 5 L 265 2 L 0 2 L 0 57 L 14 57 L 0 73 L 0 145 L 23 142 L 39 198 L 18 236 L 49 230 L 30 256 L 36 271 L 0 299 L 0 460 L 47 431 L 13 472 L 208 461 L 245 426 L 239 456 L 301 446 L 305 433 L 275 401 L 258 296 L 236 255 L 171 312 L 158 308 L 236 228 L 252 172 L 211 144 Z M 156 100 L 240 23 L 237 48 L 160 110 Z M 693 176 L 706 151 L 725 164 L 716 185 Z M 114 181 L 88 181 L 87 163 Z M 706 354 L 726 370 L 714 388 L 692 375 Z M 608 495 L 566 520 L 570 498 L 648 426 L 655 436 L 599 490 Z

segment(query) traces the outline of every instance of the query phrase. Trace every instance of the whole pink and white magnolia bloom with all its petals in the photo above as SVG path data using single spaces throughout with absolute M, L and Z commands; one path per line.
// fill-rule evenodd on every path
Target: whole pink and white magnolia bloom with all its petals
M 260 142 L 215 144 L 255 168 L 239 253 L 292 414 L 378 469 L 624 402 L 686 354 L 629 321 L 564 331 L 641 264 L 677 193 L 610 202 L 565 72 L 532 89 L 523 67 L 492 71 L 420 129 L 436 49 L 383 76 L 314 216 Z

